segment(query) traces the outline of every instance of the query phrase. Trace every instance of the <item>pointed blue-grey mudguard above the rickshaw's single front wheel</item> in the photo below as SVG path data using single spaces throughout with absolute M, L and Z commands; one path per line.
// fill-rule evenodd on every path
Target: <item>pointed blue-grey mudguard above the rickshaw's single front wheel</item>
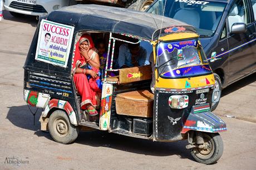
M 194 106 L 184 123 L 181 133 L 190 130 L 210 133 L 227 131 L 224 121 L 210 111 L 204 112 L 205 109 L 209 110 L 209 108 L 196 108 Z

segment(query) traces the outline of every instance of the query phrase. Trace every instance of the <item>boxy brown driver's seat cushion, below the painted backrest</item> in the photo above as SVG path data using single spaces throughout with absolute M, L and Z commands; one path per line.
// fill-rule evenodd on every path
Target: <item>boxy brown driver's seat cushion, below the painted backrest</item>
M 116 113 L 127 116 L 152 117 L 154 94 L 147 90 L 116 95 Z

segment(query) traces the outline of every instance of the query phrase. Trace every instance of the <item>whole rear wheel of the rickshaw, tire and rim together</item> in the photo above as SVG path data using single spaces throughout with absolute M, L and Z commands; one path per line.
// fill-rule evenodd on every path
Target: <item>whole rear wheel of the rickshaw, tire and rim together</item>
M 54 111 L 48 122 L 48 129 L 52 138 L 63 144 L 72 143 L 78 136 L 79 128 L 70 123 L 66 112 Z

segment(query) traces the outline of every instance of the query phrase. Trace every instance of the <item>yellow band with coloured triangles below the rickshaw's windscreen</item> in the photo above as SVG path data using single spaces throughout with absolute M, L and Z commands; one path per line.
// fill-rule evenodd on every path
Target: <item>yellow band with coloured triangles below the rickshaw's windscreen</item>
M 207 79 L 207 80 L 206 80 Z M 185 88 L 197 88 L 214 85 L 215 80 L 213 74 L 206 76 L 198 76 L 191 78 L 158 78 L 156 74 L 156 88 L 173 88 L 173 89 L 185 89 Z

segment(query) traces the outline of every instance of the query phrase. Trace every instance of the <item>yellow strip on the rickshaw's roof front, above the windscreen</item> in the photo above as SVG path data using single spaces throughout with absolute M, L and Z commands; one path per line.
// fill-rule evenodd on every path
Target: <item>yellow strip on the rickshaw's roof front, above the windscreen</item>
M 159 41 L 174 41 L 174 40 L 181 40 L 181 39 L 189 39 L 189 38 L 198 38 L 198 34 L 196 33 L 173 33 L 173 34 L 169 34 L 167 36 L 164 37 L 160 37 Z

